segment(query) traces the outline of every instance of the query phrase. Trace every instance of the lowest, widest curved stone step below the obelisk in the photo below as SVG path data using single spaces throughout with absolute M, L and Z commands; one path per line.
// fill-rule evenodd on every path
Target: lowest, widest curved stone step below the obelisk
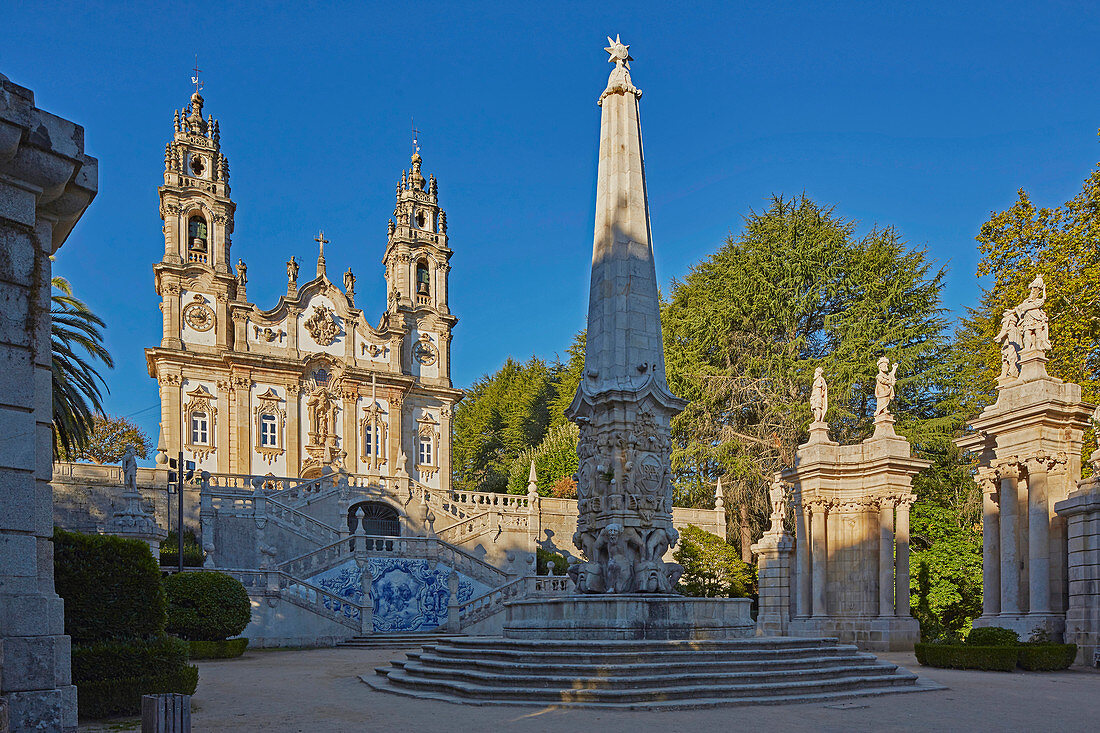
M 391 669 L 385 679 L 394 687 L 422 692 L 447 692 L 469 701 L 499 700 L 512 704 L 617 703 L 651 701 L 691 701 L 695 698 L 726 698 L 738 701 L 769 701 L 776 697 L 813 697 L 879 688 L 912 686 L 916 676 L 884 672 L 834 677 L 832 679 L 783 680 L 774 682 L 703 683 L 682 686 L 631 687 L 628 689 L 547 689 L 539 687 L 496 687 L 458 680 L 425 679 L 404 670 Z

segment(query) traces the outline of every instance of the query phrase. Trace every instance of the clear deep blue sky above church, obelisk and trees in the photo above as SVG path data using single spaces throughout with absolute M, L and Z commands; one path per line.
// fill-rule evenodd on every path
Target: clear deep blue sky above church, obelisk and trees
M 613 3 L 598 3 L 610 6 Z M 975 302 L 974 237 L 1019 187 L 1057 204 L 1100 157 L 1100 10 L 1062 2 L 15 2 L 0 72 L 82 124 L 99 196 L 55 272 L 109 322 L 109 412 L 156 438 L 142 349 L 161 337 L 156 187 L 194 54 L 221 122 L 233 258 L 274 304 L 323 228 L 376 322 L 394 187 L 410 154 L 448 210 L 459 386 L 583 326 L 600 112 L 620 33 L 662 287 L 772 193 L 897 227 Z M 170 10 L 169 10 L 170 8 Z M 671 8 L 671 10 L 670 10 Z

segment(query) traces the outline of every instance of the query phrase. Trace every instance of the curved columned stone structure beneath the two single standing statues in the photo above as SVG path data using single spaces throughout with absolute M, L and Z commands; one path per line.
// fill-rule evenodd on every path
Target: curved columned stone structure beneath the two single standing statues
M 910 615 L 909 508 L 912 477 L 927 466 L 912 457 L 889 414 L 861 444 L 818 434 L 799 447 L 783 473 L 793 485 L 796 533 L 791 635 L 837 636 L 871 650 L 920 641 Z M 763 586 L 761 575 L 761 615 Z

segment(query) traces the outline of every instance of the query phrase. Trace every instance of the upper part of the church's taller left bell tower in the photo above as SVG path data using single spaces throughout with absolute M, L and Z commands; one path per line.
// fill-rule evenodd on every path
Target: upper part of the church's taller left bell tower
M 230 267 L 230 234 L 237 207 L 230 198 L 229 162 L 221 153 L 218 121 L 212 116 L 202 119 L 202 95 L 196 90 L 189 107 L 176 110 L 174 134 L 164 147 L 164 185 L 158 189 L 164 258 L 153 265 L 153 271 L 156 292 L 163 298 L 161 346 L 168 349 L 184 348 L 183 318 L 189 305 L 180 300 L 184 289 L 193 289 L 191 284 L 202 281 L 209 299 L 224 304 L 238 296 L 239 278 Z M 210 313 L 199 310 L 199 315 Z M 219 318 L 218 324 L 222 327 L 219 342 L 228 342 L 232 335 L 224 332 L 229 330 L 224 329 L 224 319 Z

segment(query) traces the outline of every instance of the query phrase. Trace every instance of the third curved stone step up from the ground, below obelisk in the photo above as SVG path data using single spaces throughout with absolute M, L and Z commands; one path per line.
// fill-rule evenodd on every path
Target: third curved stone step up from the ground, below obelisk
M 430 648 L 430 647 L 429 647 Z M 431 654 L 428 652 L 410 652 L 406 654 L 408 661 L 430 665 L 440 669 L 477 669 L 486 672 L 497 672 L 504 675 L 522 672 L 529 669 L 526 661 L 499 661 L 495 659 L 450 657 Z M 406 661 L 394 661 L 395 665 L 405 665 Z M 688 667 L 698 672 L 716 674 L 723 671 L 769 671 L 773 669 L 825 669 L 837 666 L 873 666 L 879 664 L 878 659 L 870 654 L 858 654 L 853 656 L 804 656 L 793 659 L 708 659 L 689 660 L 681 664 L 670 664 L 668 661 L 649 661 L 642 655 L 638 655 L 635 661 L 626 665 L 594 666 L 591 664 L 550 663 L 540 660 L 539 669 L 548 675 L 581 677 L 593 669 L 615 669 L 617 674 L 630 676 L 644 676 L 647 674 L 666 674 L 673 668 Z

